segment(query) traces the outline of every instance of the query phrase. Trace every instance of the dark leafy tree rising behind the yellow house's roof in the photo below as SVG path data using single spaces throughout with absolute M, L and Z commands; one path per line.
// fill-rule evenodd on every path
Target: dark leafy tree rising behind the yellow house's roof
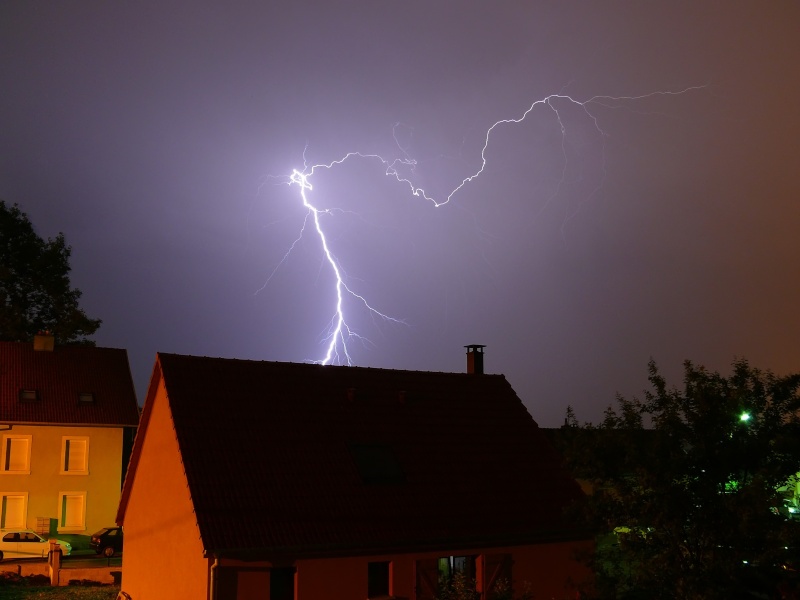
M 27 341 L 50 331 L 61 344 L 87 340 L 100 327 L 78 306 L 81 292 L 70 287 L 71 248 L 59 233 L 39 237 L 28 216 L 0 200 L 0 339 Z

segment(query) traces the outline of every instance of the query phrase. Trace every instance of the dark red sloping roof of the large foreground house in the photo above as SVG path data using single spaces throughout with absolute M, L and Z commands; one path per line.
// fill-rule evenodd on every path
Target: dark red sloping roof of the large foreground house
M 206 551 L 333 555 L 576 537 L 581 494 L 502 375 L 159 354 Z M 366 482 L 371 480 L 372 482 Z

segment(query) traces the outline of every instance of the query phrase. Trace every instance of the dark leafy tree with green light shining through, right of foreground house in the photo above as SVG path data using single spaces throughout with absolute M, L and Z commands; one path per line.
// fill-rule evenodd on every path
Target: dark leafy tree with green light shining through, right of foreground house
M 684 373 L 671 388 L 651 362 L 652 390 L 618 397 L 598 425 L 568 411 L 565 455 L 592 488 L 577 514 L 601 533 L 596 593 L 800 597 L 800 521 L 779 510 L 800 470 L 800 375 L 745 360 L 729 377 L 688 361 Z

